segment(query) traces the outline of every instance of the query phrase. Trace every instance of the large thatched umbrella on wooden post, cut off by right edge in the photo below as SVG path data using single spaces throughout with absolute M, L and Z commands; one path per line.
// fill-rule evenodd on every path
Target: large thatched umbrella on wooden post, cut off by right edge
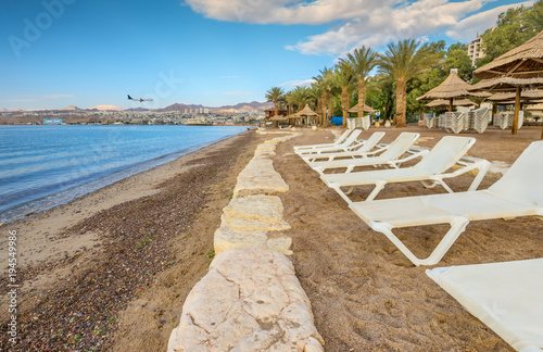
M 507 84 L 500 86 L 505 89 L 515 89 L 515 117 L 513 118 L 512 134 L 517 134 L 517 118 L 520 110 L 520 89 L 527 85 L 534 85 L 530 80 L 534 78 L 543 79 L 543 30 L 530 40 L 507 51 L 500 58 L 473 71 L 473 76 L 483 79 L 510 78 Z M 527 79 L 523 83 L 523 79 Z M 541 135 L 543 139 L 543 133 Z

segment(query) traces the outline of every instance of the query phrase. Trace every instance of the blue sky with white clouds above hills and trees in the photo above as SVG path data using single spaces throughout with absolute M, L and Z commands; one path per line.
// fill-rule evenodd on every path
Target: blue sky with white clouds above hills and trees
M 361 46 L 469 42 L 515 0 L 2 0 L 0 108 L 220 106 Z M 151 98 L 152 102 L 128 101 Z

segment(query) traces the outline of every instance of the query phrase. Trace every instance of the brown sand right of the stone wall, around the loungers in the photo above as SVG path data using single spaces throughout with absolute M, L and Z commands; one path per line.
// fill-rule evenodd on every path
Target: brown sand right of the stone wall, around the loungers
M 376 129 L 364 131 L 367 138 Z M 390 142 L 401 131 L 419 131 L 420 147 L 431 148 L 446 134 L 418 127 L 380 128 Z M 489 128 L 477 138 L 468 155 L 512 164 L 541 128 L 510 130 Z M 432 138 L 433 139 L 427 139 Z M 317 330 L 326 351 L 514 351 L 485 325 L 472 317 L 425 274 L 415 267 L 380 232 L 371 230 L 338 193 L 326 187 L 296 154 L 292 146 L 329 142 L 321 133 L 307 133 L 281 143 L 276 169 L 290 190 L 281 196 L 285 219 L 292 226 L 292 261 L 307 293 Z M 472 175 L 449 181 L 453 190 L 466 190 Z M 481 188 L 497 178 L 485 177 Z M 352 199 L 364 199 L 371 187 L 358 187 Z M 420 183 L 387 185 L 377 199 L 432 194 Z M 399 230 L 415 254 L 429 254 L 446 226 Z M 543 222 L 534 217 L 473 222 L 467 226 L 443 260 L 434 266 L 505 262 L 543 256 Z

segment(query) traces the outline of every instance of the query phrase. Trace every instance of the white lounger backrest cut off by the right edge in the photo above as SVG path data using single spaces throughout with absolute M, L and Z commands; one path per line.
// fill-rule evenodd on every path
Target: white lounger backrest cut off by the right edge
M 489 190 L 543 206 L 543 141 L 532 142 Z

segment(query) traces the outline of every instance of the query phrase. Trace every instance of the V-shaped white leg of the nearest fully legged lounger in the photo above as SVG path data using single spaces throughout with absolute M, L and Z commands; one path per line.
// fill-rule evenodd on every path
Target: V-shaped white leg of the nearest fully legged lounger
M 451 246 L 456 241 L 458 236 L 466 229 L 466 226 L 469 224 L 469 219 L 463 216 L 457 216 L 451 222 L 451 228 L 446 232 L 445 237 L 441 240 L 441 242 L 435 247 L 433 252 L 427 259 L 418 259 L 413 252 L 405 247 L 405 244 L 392 232 L 392 226 L 386 223 L 370 222 L 368 225 L 374 230 L 384 234 L 388 239 L 394 243 L 402 253 L 404 253 L 407 259 L 415 264 L 419 265 L 433 265 L 438 264 L 439 261 L 445 255 Z

